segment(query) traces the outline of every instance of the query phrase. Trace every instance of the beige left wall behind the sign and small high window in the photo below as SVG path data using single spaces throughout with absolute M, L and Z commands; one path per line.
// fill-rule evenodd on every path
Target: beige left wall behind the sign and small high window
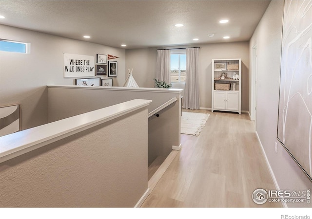
M 48 84 L 73 85 L 63 77 L 63 54 L 110 54 L 119 58 L 114 86 L 125 79 L 125 50 L 64 37 L 0 25 L 0 38 L 31 44 L 30 54 L 0 51 L 0 106 L 20 104 L 22 129 L 47 123 Z M 96 60 L 95 60 L 96 63 Z M 103 78 L 104 76 L 102 76 Z

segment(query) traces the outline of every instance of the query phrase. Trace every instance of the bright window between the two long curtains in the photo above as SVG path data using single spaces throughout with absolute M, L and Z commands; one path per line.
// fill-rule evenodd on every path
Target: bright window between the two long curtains
M 171 82 L 185 82 L 186 79 L 186 53 L 170 55 Z

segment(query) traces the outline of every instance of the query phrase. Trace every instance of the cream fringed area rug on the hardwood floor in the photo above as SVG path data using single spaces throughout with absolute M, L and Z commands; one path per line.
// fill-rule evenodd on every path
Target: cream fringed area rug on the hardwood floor
M 181 134 L 198 136 L 205 127 L 210 114 L 198 112 L 182 112 Z

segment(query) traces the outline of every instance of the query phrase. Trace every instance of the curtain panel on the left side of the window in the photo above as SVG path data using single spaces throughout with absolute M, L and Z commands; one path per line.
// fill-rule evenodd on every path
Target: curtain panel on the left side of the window
M 170 84 L 170 50 L 157 50 L 157 79 Z

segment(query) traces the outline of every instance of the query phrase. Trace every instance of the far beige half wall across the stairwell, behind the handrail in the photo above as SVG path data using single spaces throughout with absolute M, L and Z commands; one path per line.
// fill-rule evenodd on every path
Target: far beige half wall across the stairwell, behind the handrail
M 133 99 L 147 99 L 149 113 L 172 98 L 177 101 L 148 119 L 148 164 L 157 156 L 167 157 L 172 146 L 180 145 L 180 91 L 143 88 L 90 88 L 49 86 L 49 122 L 98 110 Z M 109 98 L 109 97 L 114 98 Z

